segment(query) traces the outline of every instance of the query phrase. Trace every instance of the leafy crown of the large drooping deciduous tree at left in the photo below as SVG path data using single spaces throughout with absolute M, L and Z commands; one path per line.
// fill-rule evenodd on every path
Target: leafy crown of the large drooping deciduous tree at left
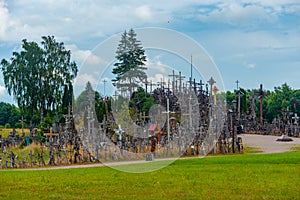
M 13 52 L 10 61 L 1 61 L 4 84 L 23 112 L 57 110 L 65 85 L 77 75 L 71 52 L 53 36 L 43 36 L 41 46 L 22 41 L 22 50 Z

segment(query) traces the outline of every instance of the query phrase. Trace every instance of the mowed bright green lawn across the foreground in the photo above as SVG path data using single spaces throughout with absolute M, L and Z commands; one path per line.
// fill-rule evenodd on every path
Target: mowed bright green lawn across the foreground
M 0 178 L 0 199 L 299 199 L 300 152 L 182 159 L 139 174 L 97 167 Z

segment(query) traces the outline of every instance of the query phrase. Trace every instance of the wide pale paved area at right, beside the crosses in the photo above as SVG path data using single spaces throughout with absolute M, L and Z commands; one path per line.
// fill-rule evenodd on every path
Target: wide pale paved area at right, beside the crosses
M 270 135 L 241 135 L 244 146 L 262 150 L 262 153 L 280 153 L 291 151 L 291 148 L 300 145 L 300 138 L 292 138 L 292 142 L 277 142 L 279 136 Z

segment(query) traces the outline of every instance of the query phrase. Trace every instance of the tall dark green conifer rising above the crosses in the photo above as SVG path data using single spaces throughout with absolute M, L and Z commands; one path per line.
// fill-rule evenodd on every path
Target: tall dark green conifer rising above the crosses
M 131 96 L 134 89 L 147 79 L 145 50 L 133 29 L 122 34 L 116 58 L 117 62 L 112 71 L 116 75 L 113 84 L 123 94 Z

